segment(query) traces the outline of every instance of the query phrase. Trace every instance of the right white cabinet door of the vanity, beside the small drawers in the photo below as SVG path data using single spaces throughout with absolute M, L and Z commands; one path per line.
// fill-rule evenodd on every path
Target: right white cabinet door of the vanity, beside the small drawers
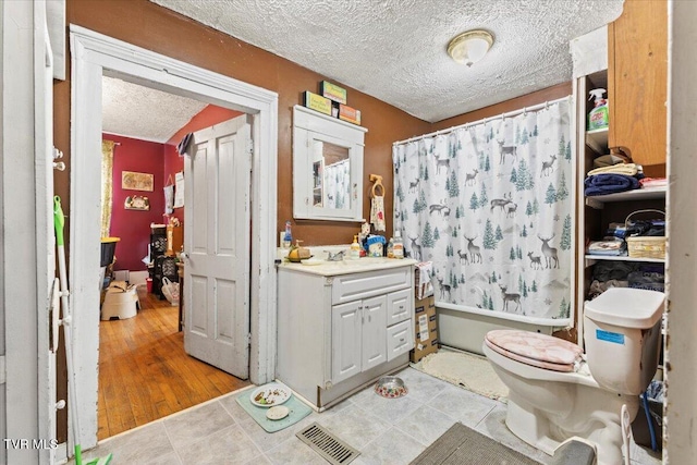
M 387 317 L 387 296 L 363 301 L 363 371 L 388 360 Z

